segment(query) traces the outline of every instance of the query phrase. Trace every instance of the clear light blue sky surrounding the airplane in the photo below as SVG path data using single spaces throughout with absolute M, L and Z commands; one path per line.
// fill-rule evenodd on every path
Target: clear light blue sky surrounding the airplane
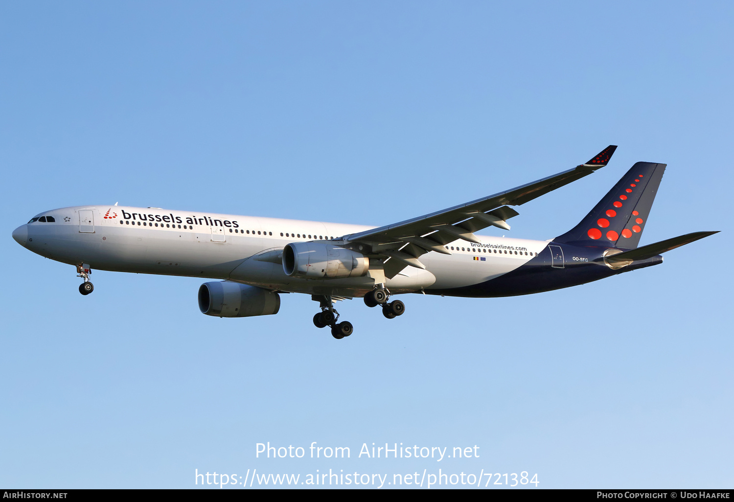
M 716 1 L 2 4 L 0 485 L 443 468 L 731 487 L 732 15 Z M 346 301 L 341 342 L 302 295 L 217 319 L 197 309 L 199 279 L 97 271 L 82 297 L 72 267 L 10 237 L 40 211 L 117 201 L 385 225 L 609 144 L 608 167 L 517 208 L 507 235 L 563 233 L 635 161 L 668 164 L 641 244 L 722 233 L 545 294 L 407 295 L 393 321 Z M 256 459 L 267 441 L 352 458 Z M 481 449 L 356 457 L 373 442 Z

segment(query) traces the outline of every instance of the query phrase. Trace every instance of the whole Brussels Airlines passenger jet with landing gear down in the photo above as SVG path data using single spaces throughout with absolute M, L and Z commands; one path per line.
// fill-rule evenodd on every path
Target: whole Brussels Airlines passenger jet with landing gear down
M 334 302 L 363 298 L 388 319 L 418 293 L 508 297 L 589 283 L 662 263 L 663 252 L 710 236 L 687 233 L 638 247 L 666 164 L 637 162 L 574 228 L 545 241 L 479 236 L 509 230 L 522 205 L 605 167 L 616 145 L 584 164 L 468 203 L 373 228 L 161 208 L 82 205 L 37 214 L 16 228 L 21 246 L 76 266 L 90 294 L 92 269 L 219 279 L 198 291 L 202 313 L 267 316 L 280 294 L 319 302 L 316 327 L 352 335 Z

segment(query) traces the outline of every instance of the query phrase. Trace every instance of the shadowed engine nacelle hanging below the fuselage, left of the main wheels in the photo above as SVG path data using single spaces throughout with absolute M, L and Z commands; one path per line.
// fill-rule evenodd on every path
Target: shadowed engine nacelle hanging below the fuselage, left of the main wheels
M 207 316 L 270 316 L 280 310 L 280 295 L 263 288 L 223 280 L 199 288 L 199 310 Z

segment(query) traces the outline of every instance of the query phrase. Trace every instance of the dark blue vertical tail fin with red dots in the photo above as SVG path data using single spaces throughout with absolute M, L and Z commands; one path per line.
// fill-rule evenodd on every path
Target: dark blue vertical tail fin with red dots
M 665 167 L 666 164 L 637 162 L 578 225 L 553 240 L 637 247 Z

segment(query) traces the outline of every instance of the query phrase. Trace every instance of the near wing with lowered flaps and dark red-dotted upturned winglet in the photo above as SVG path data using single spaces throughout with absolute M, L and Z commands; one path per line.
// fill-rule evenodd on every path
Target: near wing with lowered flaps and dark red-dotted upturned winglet
M 388 278 L 394 277 L 409 265 L 425 269 L 418 261 L 421 255 L 430 251 L 450 255 L 446 244 L 457 239 L 479 243 L 474 232 L 490 225 L 509 230 L 506 220 L 518 214 L 509 205 L 524 204 L 567 183 L 584 178 L 606 166 L 614 150 L 617 150 L 617 145 L 609 145 L 585 164 L 505 192 L 393 225 L 349 234 L 341 238 L 344 242 L 341 245 L 360 250 L 378 260 L 384 259 L 385 276 Z

